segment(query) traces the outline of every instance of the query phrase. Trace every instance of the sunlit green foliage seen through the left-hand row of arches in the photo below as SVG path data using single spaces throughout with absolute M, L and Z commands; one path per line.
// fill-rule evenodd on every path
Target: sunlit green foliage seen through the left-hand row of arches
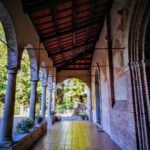
M 5 100 L 6 82 L 7 82 L 7 45 L 5 39 L 5 32 L 2 24 L 0 23 L 0 114 Z M 15 112 L 20 113 L 19 110 L 28 108 L 30 97 L 30 60 L 25 49 L 23 52 L 20 70 L 17 73 L 16 79 L 16 99 L 15 99 Z M 41 86 L 38 84 L 37 88 L 37 102 L 41 97 Z M 39 107 L 38 107 L 39 108 Z

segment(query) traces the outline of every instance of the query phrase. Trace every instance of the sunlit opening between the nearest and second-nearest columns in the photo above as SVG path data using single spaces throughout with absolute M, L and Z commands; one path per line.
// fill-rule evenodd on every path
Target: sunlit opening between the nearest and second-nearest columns
M 23 50 L 20 70 L 17 74 L 16 80 L 16 101 L 15 101 L 15 114 L 28 116 L 29 98 L 30 98 L 30 59 L 27 49 Z

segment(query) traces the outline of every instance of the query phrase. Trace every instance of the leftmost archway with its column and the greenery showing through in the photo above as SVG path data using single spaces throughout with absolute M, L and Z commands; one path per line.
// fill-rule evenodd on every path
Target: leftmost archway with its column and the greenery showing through
M 11 18 L 5 9 L 4 5 L 0 2 L 0 61 L 1 61 L 1 103 L 0 112 L 3 115 L 2 120 L 0 119 L 0 141 L 6 143 L 12 138 L 12 126 L 13 126 L 13 115 L 14 115 L 14 101 L 15 101 L 15 90 L 16 90 L 16 73 L 18 67 L 18 49 L 16 35 L 13 27 Z M 6 67 L 7 66 L 7 67 Z M 7 81 L 7 83 L 6 83 Z

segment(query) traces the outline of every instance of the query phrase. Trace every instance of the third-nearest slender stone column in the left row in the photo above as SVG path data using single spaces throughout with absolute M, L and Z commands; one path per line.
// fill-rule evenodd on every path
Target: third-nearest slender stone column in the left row
M 41 116 L 45 118 L 46 111 L 46 84 L 42 85 L 42 102 L 41 102 Z

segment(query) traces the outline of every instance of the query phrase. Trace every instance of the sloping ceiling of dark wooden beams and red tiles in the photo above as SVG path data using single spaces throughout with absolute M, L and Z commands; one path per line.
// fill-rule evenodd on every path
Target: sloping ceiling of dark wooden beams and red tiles
M 89 70 L 112 0 L 22 0 L 57 71 Z

